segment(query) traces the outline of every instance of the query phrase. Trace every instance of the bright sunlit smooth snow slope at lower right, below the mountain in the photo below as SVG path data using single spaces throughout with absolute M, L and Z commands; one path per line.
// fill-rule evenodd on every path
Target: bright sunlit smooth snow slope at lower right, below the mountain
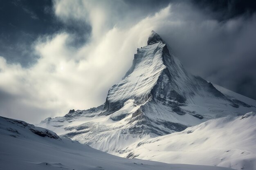
M 182 132 L 141 140 L 128 150 L 121 156 L 256 170 L 256 113 L 212 119 Z

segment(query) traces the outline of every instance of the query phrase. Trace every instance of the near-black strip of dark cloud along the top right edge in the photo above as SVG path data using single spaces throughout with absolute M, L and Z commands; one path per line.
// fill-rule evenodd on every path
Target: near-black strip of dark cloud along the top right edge
M 211 14 L 211 17 L 220 21 L 246 15 L 249 17 L 256 11 L 255 0 L 124 0 L 132 9 L 143 9 L 148 13 L 166 7 L 168 4 L 190 3 L 200 11 Z

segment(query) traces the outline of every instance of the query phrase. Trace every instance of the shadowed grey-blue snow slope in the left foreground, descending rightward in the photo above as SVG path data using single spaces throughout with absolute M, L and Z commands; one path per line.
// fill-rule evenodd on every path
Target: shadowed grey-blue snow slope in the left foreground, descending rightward
M 231 170 L 116 157 L 5 117 L 0 117 L 0 139 L 0 170 Z

